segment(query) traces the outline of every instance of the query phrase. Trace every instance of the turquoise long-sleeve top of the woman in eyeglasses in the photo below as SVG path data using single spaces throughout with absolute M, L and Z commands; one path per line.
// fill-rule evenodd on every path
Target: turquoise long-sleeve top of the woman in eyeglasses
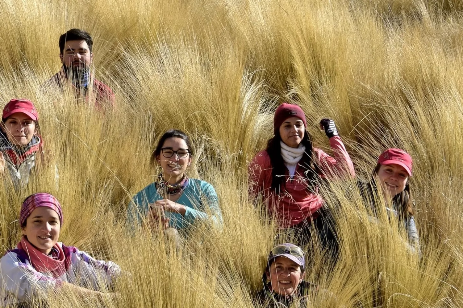
M 164 199 L 156 190 L 156 184 L 151 183 L 138 192 L 128 207 L 128 223 L 141 223 L 150 210 L 149 204 Z M 179 213 L 165 211 L 169 218 L 169 227 L 175 229 L 189 229 L 197 222 L 212 223 L 214 226 L 222 225 L 222 212 L 219 207 L 219 198 L 214 187 L 198 179 L 188 179 L 180 198 L 175 201 L 185 205 L 185 216 Z

